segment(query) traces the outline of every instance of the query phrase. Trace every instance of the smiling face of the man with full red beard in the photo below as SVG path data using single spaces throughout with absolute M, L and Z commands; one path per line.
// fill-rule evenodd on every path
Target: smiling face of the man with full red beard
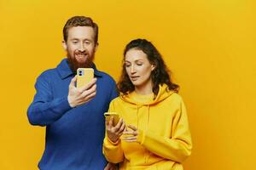
M 68 30 L 67 42 L 62 43 L 73 71 L 92 65 L 97 48 L 94 38 L 95 32 L 90 26 L 74 26 Z

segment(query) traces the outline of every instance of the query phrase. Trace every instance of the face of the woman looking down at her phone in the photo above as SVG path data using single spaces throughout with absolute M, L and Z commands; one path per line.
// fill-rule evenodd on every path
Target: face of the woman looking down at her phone
M 125 70 L 135 88 L 151 88 L 151 71 L 154 65 L 149 63 L 147 54 L 137 48 L 131 48 L 125 54 Z

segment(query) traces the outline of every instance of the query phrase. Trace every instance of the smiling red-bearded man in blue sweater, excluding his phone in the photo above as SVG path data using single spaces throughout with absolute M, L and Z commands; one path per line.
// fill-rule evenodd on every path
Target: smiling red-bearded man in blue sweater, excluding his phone
M 111 169 L 102 155 L 103 113 L 117 97 L 115 82 L 93 63 L 98 26 L 89 17 L 75 16 L 63 28 L 67 59 L 37 79 L 37 93 L 27 111 L 32 125 L 46 126 L 41 170 Z M 95 78 L 76 88 L 79 67 L 93 68 Z

